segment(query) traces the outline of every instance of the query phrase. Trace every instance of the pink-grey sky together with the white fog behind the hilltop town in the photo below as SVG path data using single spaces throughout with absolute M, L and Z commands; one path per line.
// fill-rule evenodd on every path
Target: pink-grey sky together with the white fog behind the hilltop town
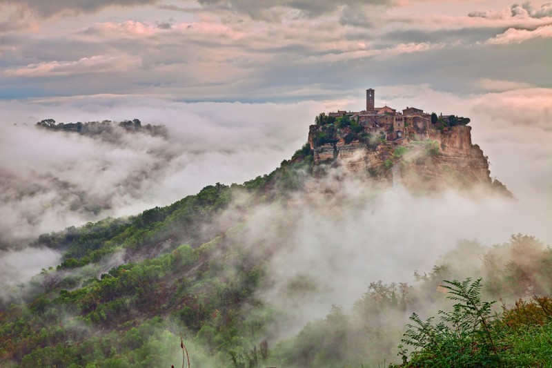
M 0 230 L 268 173 L 315 114 L 362 108 L 366 88 L 377 105 L 471 117 L 491 175 L 552 204 L 551 66 L 544 1 L 0 0 Z M 46 118 L 138 118 L 169 136 L 54 136 L 33 128 Z

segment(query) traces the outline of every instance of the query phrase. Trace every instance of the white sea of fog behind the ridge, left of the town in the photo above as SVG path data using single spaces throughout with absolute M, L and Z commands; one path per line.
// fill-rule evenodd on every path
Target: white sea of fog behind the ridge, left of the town
M 313 102 L 183 104 L 114 97 L 52 102 L 1 107 L 7 113 L 0 133 L 0 155 L 6 158 L 0 164 L 5 238 L 32 238 L 108 215 L 131 215 L 208 184 L 268 173 L 306 142 L 308 124 L 326 109 Z M 29 108 L 34 117 L 28 116 Z M 130 110 L 134 115 L 125 116 Z M 46 117 L 66 123 L 139 117 L 143 125 L 164 124 L 168 137 L 117 126 L 110 135 L 94 137 L 34 127 Z

